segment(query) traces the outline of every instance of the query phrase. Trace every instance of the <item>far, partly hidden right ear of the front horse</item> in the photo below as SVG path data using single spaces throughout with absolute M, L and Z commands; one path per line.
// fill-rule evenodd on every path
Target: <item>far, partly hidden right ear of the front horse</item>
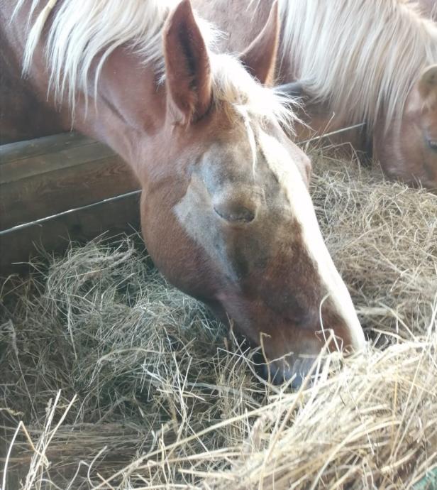
M 279 43 L 280 17 L 277 0 L 275 0 L 264 28 L 240 55 L 240 60 L 250 74 L 258 78 L 263 85 L 273 85 L 275 80 Z

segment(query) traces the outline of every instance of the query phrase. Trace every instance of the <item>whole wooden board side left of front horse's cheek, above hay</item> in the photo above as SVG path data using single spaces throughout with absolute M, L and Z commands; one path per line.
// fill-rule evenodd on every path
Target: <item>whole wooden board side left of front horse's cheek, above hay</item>
M 81 134 L 0 146 L 0 276 L 27 271 L 40 246 L 138 229 L 138 188 L 119 156 Z

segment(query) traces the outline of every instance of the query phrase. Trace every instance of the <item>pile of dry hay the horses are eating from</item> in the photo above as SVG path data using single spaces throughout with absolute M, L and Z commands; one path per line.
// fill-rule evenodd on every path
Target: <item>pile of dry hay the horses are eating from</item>
M 297 393 L 266 386 L 133 239 L 72 247 L 0 298 L 2 488 L 431 489 L 437 196 L 315 166 L 368 352 L 325 356 Z

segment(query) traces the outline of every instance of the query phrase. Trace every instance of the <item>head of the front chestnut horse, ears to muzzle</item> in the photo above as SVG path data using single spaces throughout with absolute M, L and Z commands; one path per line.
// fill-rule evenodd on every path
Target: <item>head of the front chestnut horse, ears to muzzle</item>
M 264 84 L 278 32 L 274 7 L 241 56 Z M 299 384 L 323 330 L 364 343 L 316 221 L 311 163 L 268 115 L 275 92 L 209 54 L 189 2 L 167 19 L 164 44 L 167 128 L 141 202 L 148 251 L 170 282 L 262 342 L 272 376 Z

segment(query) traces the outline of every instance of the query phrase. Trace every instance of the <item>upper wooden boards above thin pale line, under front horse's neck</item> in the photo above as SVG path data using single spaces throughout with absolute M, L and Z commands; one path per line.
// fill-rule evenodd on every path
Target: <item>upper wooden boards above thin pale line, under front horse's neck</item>
M 0 148 L 0 230 L 139 187 L 119 156 L 84 136 L 62 134 L 5 146 Z

